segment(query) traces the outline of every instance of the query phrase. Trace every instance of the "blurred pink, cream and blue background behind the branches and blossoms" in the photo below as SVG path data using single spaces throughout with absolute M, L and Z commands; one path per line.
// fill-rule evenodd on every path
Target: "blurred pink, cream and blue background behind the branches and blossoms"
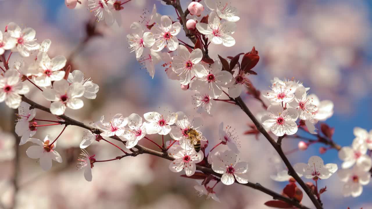
M 260 53 L 260 62 L 255 67 L 259 75 L 250 76 L 250 79 L 258 89 L 268 89 L 270 80 L 275 76 L 295 77 L 311 87 L 310 92 L 317 94 L 321 100 L 332 100 L 335 113 L 327 123 L 336 128 L 333 139 L 341 146 L 351 144 L 355 126 L 371 129 L 372 1 L 231 2 L 238 7 L 241 17 L 233 35 L 237 44 L 231 48 L 212 45 L 212 58 L 217 58 L 217 54 L 226 57 L 248 52 L 255 46 Z M 86 23 L 92 13 L 85 7 L 69 10 L 63 0 L 0 1 L 0 28 L 4 30 L 9 22 L 34 28 L 39 41 L 51 39 L 48 52 L 51 57 L 69 57 L 74 70 L 83 71 L 86 78 L 91 77 L 100 86 L 97 99 L 84 100 L 83 109 L 67 111 L 67 116 L 90 123 L 99 120 L 102 115 L 110 117 L 116 113 L 127 116 L 131 113 L 143 115 L 151 111 L 166 113 L 182 110 L 187 115 L 203 118 L 205 125 L 202 132 L 210 144 L 207 150 L 218 143 L 218 125 L 224 122 L 236 128 L 240 135 L 240 158 L 248 161 L 249 180 L 281 192 L 285 183 L 270 179 L 270 174 L 275 173 L 278 167 L 273 148 L 262 137 L 256 140 L 254 136 L 243 135 L 250 121 L 237 106 L 217 103 L 217 113 L 212 117 L 196 113 L 191 104 L 192 92 L 182 91 L 177 81 L 168 80 L 160 65 L 157 65 L 155 77 L 151 79 L 146 70 L 141 69 L 135 55 L 129 54 L 126 42 L 129 26 L 141 19 L 144 9 L 151 11 L 154 3 L 158 13 L 174 19 L 173 7 L 164 6 L 160 1 L 132 0 L 122 10 L 122 28 L 108 28 L 99 23 L 97 31 L 102 36 L 90 39 L 84 48 L 80 48 L 79 44 L 86 36 Z M 189 1 L 181 0 L 181 3 L 186 8 Z M 188 41 L 181 33 L 179 38 Z M 19 60 L 20 57 L 12 56 L 10 63 Z M 48 106 L 37 89 L 27 96 Z M 250 96 L 244 96 L 244 99 L 254 113 L 263 110 L 260 103 Z M 78 145 L 84 129 L 70 126 L 58 139 L 57 151 L 61 153 L 64 163 L 54 162 L 52 170 L 44 172 L 35 160 L 26 156 L 25 151 L 31 143 L 20 147 L 19 153 L 10 151 L 14 149 L 15 117 L 4 103 L 0 104 L 0 111 L 0 127 L 3 130 L 0 132 L 0 156 L 8 156 L 0 162 L 0 208 L 9 208 L 15 200 L 17 209 L 260 209 L 267 208 L 263 203 L 271 199 L 248 187 L 224 186 L 220 183 L 216 191 L 221 203 L 205 200 L 205 197 L 197 196 L 193 188 L 197 184 L 195 180 L 179 177 L 182 173 L 169 171 L 169 161 L 148 155 L 97 163 L 93 168 L 93 181 L 87 182 L 83 171 L 76 168 L 80 152 Z M 37 118 L 55 119 L 41 111 L 37 112 Z M 43 139 L 46 134 L 57 136 L 61 129 L 61 126 L 40 127 L 34 137 Z M 152 135 L 151 138 L 157 142 L 161 140 L 158 135 Z M 297 143 L 294 139 L 284 139 L 284 149 L 296 148 Z M 155 148 L 145 140 L 140 144 Z M 289 155 L 291 163 L 307 162 L 312 155 L 320 155 L 319 147 L 321 145 L 312 145 L 307 151 Z M 87 150 L 96 154 L 97 160 L 120 154 L 103 141 L 94 142 Z M 12 158 L 13 155 L 17 157 Z M 321 157 L 325 163 L 340 166 L 336 150 L 329 150 Z M 19 162 L 17 168 L 14 166 L 16 161 Z M 15 176 L 17 189 L 13 186 Z M 337 175 L 333 175 L 328 180 L 320 181 L 320 186 L 327 186 L 328 189 L 322 194 L 322 201 L 325 208 L 372 208 L 371 185 L 364 186 L 358 198 L 344 198 L 341 194 L 343 183 Z M 305 195 L 302 202 L 312 206 Z

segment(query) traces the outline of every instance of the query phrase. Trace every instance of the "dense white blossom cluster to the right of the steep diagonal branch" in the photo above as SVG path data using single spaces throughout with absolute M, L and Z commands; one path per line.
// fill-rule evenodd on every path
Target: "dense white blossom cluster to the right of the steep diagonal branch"
M 310 88 L 294 80 L 272 80 L 271 90 L 263 91 L 262 96 L 270 101 L 267 113 L 261 121 L 265 128 L 276 136 L 293 135 L 298 126 L 304 124 L 311 134 L 316 134 L 315 124 L 333 115 L 333 102 L 320 101 Z M 296 121 L 300 121 L 297 125 Z

